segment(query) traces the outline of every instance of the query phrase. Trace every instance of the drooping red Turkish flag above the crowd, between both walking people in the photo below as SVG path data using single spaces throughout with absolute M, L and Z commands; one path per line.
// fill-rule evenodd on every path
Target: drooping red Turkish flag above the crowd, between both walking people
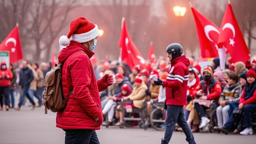
M 125 20 L 123 21 L 123 27 L 120 34 L 119 45 L 121 48 L 121 60 L 125 62 L 130 69 L 133 69 L 135 65 L 140 65 L 145 68 L 146 61 L 140 54 L 137 47 L 134 45 L 133 40 L 126 28 Z

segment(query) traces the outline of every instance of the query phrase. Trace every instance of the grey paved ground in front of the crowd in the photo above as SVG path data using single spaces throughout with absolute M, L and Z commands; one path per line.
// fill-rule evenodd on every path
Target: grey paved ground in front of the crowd
M 0 144 L 64 144 L 64 131 L 55 127 L 55 113 L 44 114 L 44 108 L 34 111 L 0 111 Z M 164 132 L 153 129 L 102 127 L 97 131 L 101 144 L 160 144 Z M 255 144 L 256 136 L 196 133 L 197 144 Z M 187 144 L 181 132 L 174 132 L 172 144 Z

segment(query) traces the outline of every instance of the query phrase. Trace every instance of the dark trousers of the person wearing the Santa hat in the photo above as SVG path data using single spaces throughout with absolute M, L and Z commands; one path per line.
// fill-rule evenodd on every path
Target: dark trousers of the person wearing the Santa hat
M 65 144 L 100 144 L 97 133 L 91 129 L 63 129 Z

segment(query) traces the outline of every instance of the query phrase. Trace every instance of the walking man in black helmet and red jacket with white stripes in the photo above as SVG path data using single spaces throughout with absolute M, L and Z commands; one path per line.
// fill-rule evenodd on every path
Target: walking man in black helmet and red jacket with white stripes
M 167 117 L 165 120 L 165 137 L 162 139 L 162 144 L 168 144 L 170 141 L 176 122 L 187 136 L 187 142 L 195 144 L 194 136 L 185 120 L 183 109 L 187 101 L 188 66 L 190 63 L 185 55 L 181 55 L 183 48 L 178 43 L 172 43 L 167 46 L 166 52 L 168 52 L 172 67 L 169 70 L 166 81 L 160 79 L 154 81 L 156 85 L 166 87 Z

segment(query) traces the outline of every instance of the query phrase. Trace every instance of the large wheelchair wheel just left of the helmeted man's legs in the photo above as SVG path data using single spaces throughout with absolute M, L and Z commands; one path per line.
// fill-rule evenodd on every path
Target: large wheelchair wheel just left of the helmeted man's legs
M 160 117 L 159 111 L 161 111 L 162 115 Z M 159 118 L 160 117 L 160 118 Z M 165 123 L 164 120 L 165 114 L 162 110 L 155 108 L 150 114 L 150 124 L 155 130 L 165 130 L 165 128 L 159 127 L 161 124 Z

